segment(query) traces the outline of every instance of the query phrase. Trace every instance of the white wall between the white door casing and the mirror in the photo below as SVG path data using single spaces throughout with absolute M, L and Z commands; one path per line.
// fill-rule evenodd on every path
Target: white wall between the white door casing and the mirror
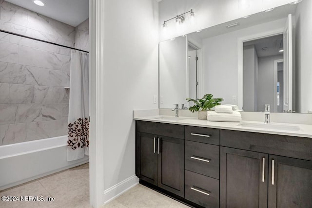
M 135 175 L 133 110 L 158 107 L 153 103 L 158 90 L 158 4 L 155 0 L 105 0 L 102 14 L 106 28 L 101 34 L 103 177 L 104 189 L 109 189 Z

